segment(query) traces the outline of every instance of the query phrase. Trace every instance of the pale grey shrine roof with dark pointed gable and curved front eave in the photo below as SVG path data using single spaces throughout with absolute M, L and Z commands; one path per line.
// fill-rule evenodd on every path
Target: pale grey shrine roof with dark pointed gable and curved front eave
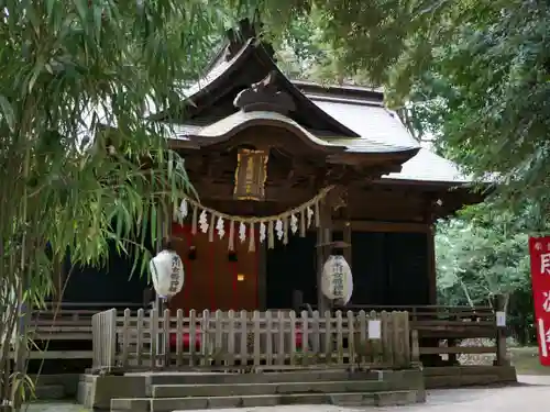
M 268 86 L 276 88 L 277 93 L 292 98 L 292 110 L 246 111 L 235 107 L 235 97 L 266 81 L 266 77 L 271 77 Z M 317 149 L 361 157 L 385 156 L 402 164 L 400 171 L 382 177 L 384 182 L 470 182 L 452 162 L 420 147 L 397 114 L 384 107 L 383 92 L 289 80 L 277 68 L 273 48 L 255 38 L 235 44 L 233 37 L 233 42 L 228 42 L 207 74 L 182 90 L 182 100 L 183 109 L 176 113 L 152 115 L 156 121 L 170 123 L 176 147 L 198 148 L 228 140 L 248 126 L 277 122 Z

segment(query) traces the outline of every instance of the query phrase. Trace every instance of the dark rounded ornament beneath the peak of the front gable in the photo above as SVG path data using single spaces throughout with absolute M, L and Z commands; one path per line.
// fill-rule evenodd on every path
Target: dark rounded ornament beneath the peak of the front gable
M 243 112 L 270 111 L 288 114 L 296 110 L 293 98 L 279 91 L 276 86 L 277 71 L 272 70 L 263 80 L 242 90 L 233 100 L 233 105 Z

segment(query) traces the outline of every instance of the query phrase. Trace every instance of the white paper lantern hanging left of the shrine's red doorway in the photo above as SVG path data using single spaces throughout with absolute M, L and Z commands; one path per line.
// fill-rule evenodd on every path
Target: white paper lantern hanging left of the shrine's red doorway
M 148 263 L 153 287 L 161 298 L 172 298 L 184 287 L 184 263 L 177 253 L 162 250 Z

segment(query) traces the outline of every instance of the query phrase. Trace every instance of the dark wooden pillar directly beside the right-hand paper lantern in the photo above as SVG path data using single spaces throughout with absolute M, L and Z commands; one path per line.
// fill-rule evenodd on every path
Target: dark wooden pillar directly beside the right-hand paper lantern
M 317 229 L 317 309 L 324 312 L 330 308 L 329 300 L 322 294 L 321 277 L 322 267 L 330 254 L 330 247 L 327 245 L 332 241 L 332 210 L 327 198 L 319 204 L 320 225 Z

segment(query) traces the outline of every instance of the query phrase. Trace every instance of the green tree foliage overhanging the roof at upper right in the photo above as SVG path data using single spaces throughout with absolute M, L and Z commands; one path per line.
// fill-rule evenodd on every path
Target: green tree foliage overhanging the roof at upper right
M 296 37 L 298 25 L 302 44 L 319 44 L 322 68 L 315 71 L 383 85 L 417 137 L 436 134 L 439 148 L 475 177 L 498 177 L 508 199 L 546 203 L 548 2 L 243 2 L 260 4 L 267 30 Z M 308 26 L 314 35 L 304 33 Z

